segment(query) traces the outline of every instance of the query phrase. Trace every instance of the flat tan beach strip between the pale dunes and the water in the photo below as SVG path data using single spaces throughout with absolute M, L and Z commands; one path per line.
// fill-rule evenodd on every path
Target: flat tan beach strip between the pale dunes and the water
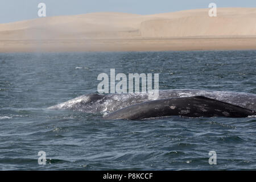
M 256 38 L 5 40 L 0 52 L 195 51 L 256 49 Z

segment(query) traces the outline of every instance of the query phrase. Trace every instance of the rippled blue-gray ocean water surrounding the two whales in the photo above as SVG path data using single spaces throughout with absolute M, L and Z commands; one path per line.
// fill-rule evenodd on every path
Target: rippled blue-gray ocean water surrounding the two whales
M 159 73 L 162 90 L 256 94 L 255 63 L 256 51 L 0 53 L 0 169 L 255 170 L 254 117 L 107 121 L 47 109 L 97 93 L 97 76 L 110 68 Z

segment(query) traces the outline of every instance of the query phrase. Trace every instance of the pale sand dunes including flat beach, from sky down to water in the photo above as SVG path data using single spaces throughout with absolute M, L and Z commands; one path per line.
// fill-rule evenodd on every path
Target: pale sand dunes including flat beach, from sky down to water
M 90 13 L 0 24 L 0 52 L 256 49 L 256 8 Z

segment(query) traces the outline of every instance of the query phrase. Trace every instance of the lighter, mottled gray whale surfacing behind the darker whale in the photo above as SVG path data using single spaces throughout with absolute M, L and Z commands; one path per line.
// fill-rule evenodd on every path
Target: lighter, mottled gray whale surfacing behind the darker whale
M 159 97 L 155 98 L 155 100 L 193 96 L 204 96 L 217 101 L 244 107 L 245 109 L 256 110 L 256 94 L 251 93 L 196 89 L 159 90 Z M 149 95 L 144 93 L 86 94 L 61 104 L 48 107 L 48 109 L 69 109 L 85 113 L 109 114 L 119 109 L 151 100 Z

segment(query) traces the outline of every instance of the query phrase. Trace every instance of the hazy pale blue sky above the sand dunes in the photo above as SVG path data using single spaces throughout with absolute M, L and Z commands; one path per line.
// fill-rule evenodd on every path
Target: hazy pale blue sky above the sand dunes
M 0 0 L 0 23 L 38 18 L 38 4 L 46 3 L 46 15 L 75 15 L 102 11 L 156 14 L 217 7 L 256 7 L 256 0 Z

